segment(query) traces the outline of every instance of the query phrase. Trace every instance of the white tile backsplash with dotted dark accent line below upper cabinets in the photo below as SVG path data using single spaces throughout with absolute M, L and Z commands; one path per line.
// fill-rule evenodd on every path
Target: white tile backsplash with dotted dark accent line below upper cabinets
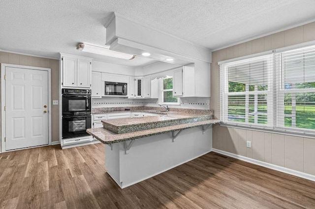
M 210 109 L 210 98 L 187 97 L 180 98 L 180 105 L 168 105 L 172 108 Z M 158 106 L 158 99 L 128 99 L 124 97 L 94 98 L 93 107 L 121 107 L 121 106 Z

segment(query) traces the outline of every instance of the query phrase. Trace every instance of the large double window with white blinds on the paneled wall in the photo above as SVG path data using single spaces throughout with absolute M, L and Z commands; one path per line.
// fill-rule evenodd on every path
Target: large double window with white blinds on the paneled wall
M 315 131 L 315 46 L 223 63 L 221 121 Z

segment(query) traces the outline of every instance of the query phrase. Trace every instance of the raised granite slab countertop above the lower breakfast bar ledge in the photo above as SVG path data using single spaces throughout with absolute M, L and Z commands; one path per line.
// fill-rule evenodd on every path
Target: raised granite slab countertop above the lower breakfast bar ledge
M 212 116 L 209 114 L 166 112 L 164 115 L 111 119 L 102 122 L 104 129 L 115 133 L 127 133 L 210 119 L 212 119 Z

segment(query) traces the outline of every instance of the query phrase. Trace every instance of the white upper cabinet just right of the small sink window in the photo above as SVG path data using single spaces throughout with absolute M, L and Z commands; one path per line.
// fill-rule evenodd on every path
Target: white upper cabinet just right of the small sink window
M 173 71 L 173 97 L 195 96 L 194 65 L 185 65 Z

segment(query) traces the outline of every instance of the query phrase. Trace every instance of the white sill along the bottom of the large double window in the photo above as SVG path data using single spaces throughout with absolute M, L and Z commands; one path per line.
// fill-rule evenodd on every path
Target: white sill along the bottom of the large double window
M 292 135 L 292 136 L 314 138 L 315 139 L 315 132 L 307 132 L 307 131 L 299 131 L 299 130 L 296 130 L 296 131 L 283 130 L 283 129 L 275 129 L 272 127 L 252 127 L 252 126 L 248 126 L 248 125 L 226 124 L 226 123 L 222 123 L 222 122 L 220 123 L 220 126 L 236 128 L 236 129 L 246 129 L 246 130 L 252 130 L 252 131 L 262 131 L 262 132 L 268 132 L 268 133 L 278 133 L 278 134 L 284 134 L 284 135 Z

